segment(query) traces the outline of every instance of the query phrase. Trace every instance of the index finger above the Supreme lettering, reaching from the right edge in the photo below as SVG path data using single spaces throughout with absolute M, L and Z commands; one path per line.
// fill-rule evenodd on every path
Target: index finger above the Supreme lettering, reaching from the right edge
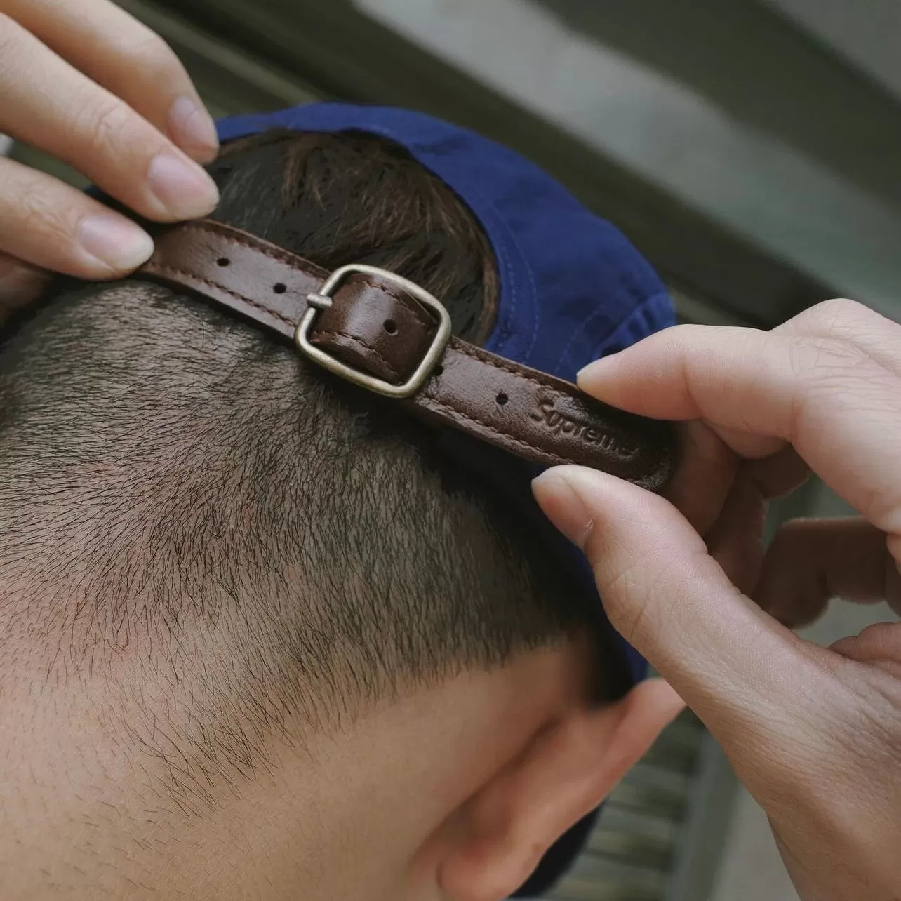
M 704 419 L 742 456 L 790 442 L 884 532 L 901 531 L 901 378 L 863 350 L 753 329 L 676 326 L 596 361 L 580 384 L 661 419 Z

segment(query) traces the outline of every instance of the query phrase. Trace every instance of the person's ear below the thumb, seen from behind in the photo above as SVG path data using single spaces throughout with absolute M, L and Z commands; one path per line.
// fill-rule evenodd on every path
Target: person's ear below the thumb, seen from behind
M 454 817 L 438 851 L 439 895 L 502 901 L 545 851 L 594 810 L 684 707 L 660 679 L 580 708 L 539 733 Z

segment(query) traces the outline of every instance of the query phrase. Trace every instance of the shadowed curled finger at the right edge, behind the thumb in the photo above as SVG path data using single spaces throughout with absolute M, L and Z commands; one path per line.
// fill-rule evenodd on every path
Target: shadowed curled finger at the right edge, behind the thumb
M 769 546 L 754 599 L 791 626 L 812 623 L 833 597 L 887 600 L 901 612 L 901 577 L 886 536 L 865 520 L 787 523 Z

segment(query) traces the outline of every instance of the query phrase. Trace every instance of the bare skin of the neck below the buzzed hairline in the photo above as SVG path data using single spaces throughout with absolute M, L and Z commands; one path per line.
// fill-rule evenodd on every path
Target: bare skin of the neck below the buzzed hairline
M 140 704 L 126 712 L 104 695 L 103 679 L 35 690 L 33 677 L 17 682 L 7 673 L 3 895 L 43 897 L 52 884 L 59 899 L 419 897 L 406 894 L 411 880 L 427 881 L 411 863 L 417 851 L 552 715 L 551 689 L 529 711 L 515 703 L 515 666 L 499 689 L 496 673 L 464 674 L 303 748 L 269 742 L 246 778 L 205 784 L 196 774 L 194 793 L 173 778 L 188 765 L 174 744 L 161 755 L 163 736 L 153 751 L 135 741 L 146 726 L 135 728 L 139 718 L 166 731 L 165 695 L 155 687 L 141 687 Z M 554 666 L 549 657 L 548 685 Z

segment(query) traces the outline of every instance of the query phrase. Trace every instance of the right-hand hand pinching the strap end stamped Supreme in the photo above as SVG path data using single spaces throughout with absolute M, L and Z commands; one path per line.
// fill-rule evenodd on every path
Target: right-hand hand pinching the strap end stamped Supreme
M 773 332 L 679 326 L 580 384 L 691 421 L 669 500 L 575 467 L 536 480 L 610 619 L 721 742 L 805 901 L 898 901 L 901 623 L 831 648 L 782 623 L 835 595 L 901 610 L 901 326 L 851 301 Z M 862 518 L 790 524 L 764 559 L 766 499 L 805 467 Z

